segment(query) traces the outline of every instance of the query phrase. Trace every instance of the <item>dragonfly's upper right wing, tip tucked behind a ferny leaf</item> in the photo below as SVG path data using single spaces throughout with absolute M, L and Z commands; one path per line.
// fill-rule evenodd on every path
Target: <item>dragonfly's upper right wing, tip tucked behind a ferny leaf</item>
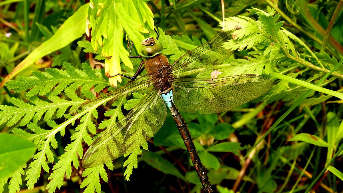
M 171 72 L 180 77 L 212 70 L 232 55 L 233 51 L 222 47 L 223 43 L 229 39 L 232 39 L 229 32 L 219 32 L 210 41 L 175 61 L 171 65 L 173 68 Z

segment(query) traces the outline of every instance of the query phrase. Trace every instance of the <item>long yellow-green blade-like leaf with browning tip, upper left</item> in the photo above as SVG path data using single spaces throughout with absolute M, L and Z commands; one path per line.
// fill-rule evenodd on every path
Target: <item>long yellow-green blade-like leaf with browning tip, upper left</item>
M 85 18 L 86 10 L 89 3 L 82 5 L 78 11 L 76 11 L 72 16 L 70 16 L 57 32 L 43 44 L 38 46 L 33 50 L 20 64 L 18 64 L 15 69 L 9 74 L 1 83 L 0 88 L 3 87 L 4 83 L 10 79 L 13 79 L 15 75 L 19 72 L 27 69 L 31 64 L 36 62 L 39 58 L 42 58 L 49 53 L 56 51 L 69 43 L 79 38 L 85 32 Z

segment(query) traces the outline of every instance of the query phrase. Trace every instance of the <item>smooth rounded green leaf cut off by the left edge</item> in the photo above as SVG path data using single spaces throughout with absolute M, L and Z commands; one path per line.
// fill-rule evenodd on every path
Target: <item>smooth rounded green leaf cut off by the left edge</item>
M 36 146 L 22 137 L 0 133 L 0 179 L 20 169 L 36 152 Z

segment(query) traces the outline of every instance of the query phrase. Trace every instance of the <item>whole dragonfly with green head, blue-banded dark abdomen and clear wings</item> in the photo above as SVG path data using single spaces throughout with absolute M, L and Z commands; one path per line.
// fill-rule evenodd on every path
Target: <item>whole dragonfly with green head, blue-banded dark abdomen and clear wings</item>
M 232 39 L 230 32 L 221 31 L 173 64 L 162 54 L 163 45 L 158 41 L 156 29 L 155 32 L 156 38 L 149 37 L 142 41 L 139 56 L 131 55 L 133 42 L 128 38 L 131 43 L 130 58 L 143 59 L 132 77 L 117 75 L 127 77 L 132 82 L 81 105 L 86 107 L 104 99 L 116 100 L 132 92 L 146 91 L 141 101 L 125 117 L 106 129 L 87 149 L 82 166 L 91 168 L 105 164 L 139 148 L 161 128 L 168 108 L 204 190 L 212 192 L 209 177 L 179 110 L 189 113 L 199 111 L 201 114 L 225 112 L 267 93 L 273 83 L 264 76 L 254 74 L 213 79 L 184 77 L 211 71 L 232 55 L 233 51 L 223 48 L 223 43 Z M 147 74 L 138 77 L 144 69 Z

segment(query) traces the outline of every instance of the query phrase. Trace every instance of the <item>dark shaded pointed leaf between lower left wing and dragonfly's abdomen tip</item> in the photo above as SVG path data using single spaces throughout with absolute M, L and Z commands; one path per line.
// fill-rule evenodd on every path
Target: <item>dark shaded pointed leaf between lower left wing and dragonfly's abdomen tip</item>
M 157 169 L 166 174 L 174 175 L 181 180 L 186 181 L 186 178 L 176 169 L 176 167 L 171 164 L 168 160 L 164 159 L 162 156 L 155 153 L 146 151 L 142 155 L 143 160 L 151 167 Z

